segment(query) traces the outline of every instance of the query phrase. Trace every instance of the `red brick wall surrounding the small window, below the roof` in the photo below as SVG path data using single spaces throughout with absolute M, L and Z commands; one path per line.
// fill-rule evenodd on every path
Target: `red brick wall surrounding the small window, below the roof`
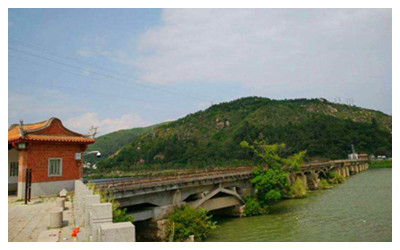
M 32 169 L 32 182 L 75 180 L 81 178 L 83 172 L 83 161 L 75 160 L 75 153 L 83 150 L 81 144 L 31 142 L 26 153 L 20 154 L 20 164 L 25 161 L 21 158 L 26 158 L 27 167 Z M 49 158 L 62 158 L 62 176 L 48 176 Z M 25 180 L 18 178 L 18 181 Z

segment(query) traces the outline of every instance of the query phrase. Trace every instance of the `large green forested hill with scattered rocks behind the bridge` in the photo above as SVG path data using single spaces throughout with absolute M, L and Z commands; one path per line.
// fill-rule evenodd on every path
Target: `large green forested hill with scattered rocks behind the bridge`
M 150 166 L 240 165 L 251 153 L 241 141 L 287 144 L 290 152 L 307 150 L 308 159 L 346 158 L 358 152 L 391 154 L 392 117 L 325 99 L 271 100 L 247 97 L 162 124 L 134 138 L 103 159 L 102 169 Z

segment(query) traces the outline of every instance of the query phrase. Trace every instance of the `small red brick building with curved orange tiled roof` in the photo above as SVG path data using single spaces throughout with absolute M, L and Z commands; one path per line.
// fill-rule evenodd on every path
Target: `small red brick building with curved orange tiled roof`
M 26 169 L 32 170 L 32 197 L 73 190 L 82 178 L 83 152 L 93 143 L 91 136 L 65 128 L 58 118 L 13 124 L 8 129 L 8 190 L 25 194 Z

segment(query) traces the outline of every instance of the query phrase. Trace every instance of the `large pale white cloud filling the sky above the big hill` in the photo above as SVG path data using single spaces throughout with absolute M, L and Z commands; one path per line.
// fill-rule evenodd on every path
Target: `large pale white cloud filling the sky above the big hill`
M 273 98 L 349 93 L 368 103 L 390 77 L 391 28 L 390 9 L 165 9 L 140 37 L 134 65 L 156 84 L 235 83 Z

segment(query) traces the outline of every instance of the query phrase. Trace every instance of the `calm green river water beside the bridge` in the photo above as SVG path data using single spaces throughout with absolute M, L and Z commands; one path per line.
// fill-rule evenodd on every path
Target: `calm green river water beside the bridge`
M 207 241 L 392 241 L 392 169 L 280 201 L 268 215 L 214 219 L 218 229 Z

